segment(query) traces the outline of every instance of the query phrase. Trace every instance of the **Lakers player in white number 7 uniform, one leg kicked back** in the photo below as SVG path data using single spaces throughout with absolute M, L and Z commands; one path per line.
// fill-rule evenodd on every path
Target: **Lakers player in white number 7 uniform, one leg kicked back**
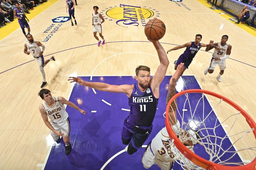
M 55 57 L 52 56 L 50 59 L 44 61 L 43 52 L 44 52 L 45 46 L 40 41 L 34 41 L 34 38 L 31 34 L 27 35 L 27 39 L 28 41 L 26 41 L 24 45 L 24 53 L 27 55 L 31 53 L 35 58 L 35 61 L 37 61 L 37 63 L 39 64 L 39 69 L 43 76 L 43 83 L 41 85 L 41 88 L 44 88 L 47 84 L 46 78 L 45 78 L 44 66 L 47 63 L 49 63 L 51 60 L 55 61 Z M 42 51 L 40 47 L 42 47 Z

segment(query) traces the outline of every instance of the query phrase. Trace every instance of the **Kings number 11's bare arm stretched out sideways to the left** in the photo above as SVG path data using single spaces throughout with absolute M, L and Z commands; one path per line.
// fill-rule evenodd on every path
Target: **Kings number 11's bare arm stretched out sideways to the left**
M 68 80 L 70 83 L 77 82 L 79 85 L 91 87 L 99 91 L 125 93 L 129 98 L 131 97 L 133 90 L 133 85 L 109 85 L 101 82 L 86 82 L 77 77 L 69 77 Z

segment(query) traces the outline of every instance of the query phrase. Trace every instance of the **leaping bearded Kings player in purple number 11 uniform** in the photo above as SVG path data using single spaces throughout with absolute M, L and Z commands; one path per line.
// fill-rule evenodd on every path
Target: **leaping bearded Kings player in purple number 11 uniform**
M 159 60 L 155 76 L 150 78 L 150 68 L 138 66 L 135 70 L 137 82 L 133 85 L 109 85 L 100 82 L 86 82 L 81 78 L 69 77 L 68 80 L 100 91 L 124 93 L 129 98 L 130 114 L 124 120 L 122 142 L 128 145 L 128 154 L 136 152 L 147 140 L 152 131 L 159 98 L 159 86 L 169 65 L 167 55 L 159 41 L 152 41 Z

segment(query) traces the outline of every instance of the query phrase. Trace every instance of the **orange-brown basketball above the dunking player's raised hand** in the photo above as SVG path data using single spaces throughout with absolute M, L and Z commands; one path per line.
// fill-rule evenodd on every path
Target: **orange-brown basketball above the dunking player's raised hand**
M 163 38 L 165 25 L 160 19 L 151 19 L 146 24 L 144 31 L 148 39 L 157 41 Z

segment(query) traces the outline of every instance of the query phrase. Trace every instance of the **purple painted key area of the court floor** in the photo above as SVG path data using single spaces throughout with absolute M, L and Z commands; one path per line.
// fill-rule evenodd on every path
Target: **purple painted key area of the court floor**
M 80 77 L 85 81 L 90 81 L 90 76 Z M 156 116 L 153 122 L 153 131 L 148 140 L 144 143 L 147 145 L 155 135 L 165 126 L 163 114 L 165 112 L 166 95 L 171 76 L 165 76 L 160 85 L 160 97 L 157 106 Z M 136 82 L 133 76 L 93 76 L 92 82 L 103 82 L 108 84 L 122 85 L 133 84 Z M 179 80 L 177 91 L 187 89 L 201 89 L 194 76 L 182 76 Z M 196 105 L 200 94 L 191 94 L 190 104 Z M 195 101 L 194 101 L 195 100 Z M 141 158 L 145 148 L 139 149 L 133 155 L 124 152 L 126 145 L 122 144 L 121 131 L 124 119 L 129 114 L 128 98 L 123 93 L 100 92 L 89 87 L 74 84 L 69 101 L 75 103 L 78 107 L 87 112 L 81 114 L 77 110 L 67 107 L 70 119 L 70 142 L 72 144 L 71 153 L 65 155 L 65 145 L 63 140 L 59 144 L 53 144 L 52 150 L 48 157 L 44 169 L 88 169 L 88 170 L 137 170 L 144 169 Z M 180 111 L 183 109 L 184 102 L 178 100 Z M 212 107 L 206 100 L 204 109 L 211 111 Z M 199 107 L 202 107 L 201 105 Z M 200 110 L 200 108 L 198 108 Z M 189 114 L 188 114 L 189 115 Z M 215 116 L 211 114 L 210 116 Z M 201 119 L 198 116 L 196 119 Z M 214 118 L 213 118 L 214 120 Z M 216 116 L 215 116 L 216 120 Z M 214 126 L 214 121 L 206 122 L 209 126 Z M 226 135 L 224 129 L 220 126 L 217 129 L 219 134 Z M 205 152 L 200 151 L 199 146 L 195 146 L 196 154 L 205 156 Z M 202 150 L 204 148 L 202 147 Z M 227 155 L 230 156 L 230 155 Z M 225 159 L 223 157 L 223 159 Z M 240 160 L 238 154 L 230 159 Z M 153 165 L 150 169 L 160 169 Z M 175 163 L 173 169 L 181 169 Z

